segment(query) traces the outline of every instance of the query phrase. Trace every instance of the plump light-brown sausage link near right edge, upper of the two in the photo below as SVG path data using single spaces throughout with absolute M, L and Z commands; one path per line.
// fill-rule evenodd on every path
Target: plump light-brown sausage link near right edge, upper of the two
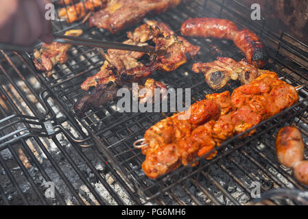
M 300 130 L 292 126 L 280 129 L 276 136 L 276 153 L 279 162 L 289 168 L 301 162 L 304 159 L 305 145 Z M 300 172 L 302 168 L 298 168 Z

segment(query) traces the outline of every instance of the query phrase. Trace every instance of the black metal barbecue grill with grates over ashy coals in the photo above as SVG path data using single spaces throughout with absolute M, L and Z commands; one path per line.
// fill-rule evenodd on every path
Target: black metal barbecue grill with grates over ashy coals
M 80 84 L 104 63 L 96 49 L 73 46 L 69 60 L 57 64 L 50 77 L 38 72 L 31 53 L 1 51 L 0 63 L 0 204 L 43 205 L 244 205 L 259 183 L 261 193 L 275 188 L 307 190 L 292 170 L 276 159 L 274 138 L 280 127 L 296 125 L 308 139 L 308 47 L 286 33 L 268 29 L 265 18 L 250 19 L 251 10 L 239 1 L 195 0 L 148 18 L 170 25 L 180 35 L 179 24 L 191 17 L 217 17 L 234 21 L 260 36 L 269 48 L 266 69 L 300 90 L 300 102 L 263 121 L 257 131 L 224 142 L 212 160 L 182 166 L 159 179 L 148 179 L 144 160 L 132 146 L 146 129 L 171 113 L 119 113 L 116 102 L 78 116 L 74 104 L 86 92 Z M 139 23 L 140 25 L 140 23 Z M 83 29 L 84 38 L 122 42 L 126 31 L 108 31 L 56 18 L 54 32 Z M 193 102 L 213 93 L 203 75 L 192 73 L 194 62 L 212 62 L 217 55 L 241 60 L 241 51 L 226 40 L 189 39 L 201 47 L 194 60 L 171 73 L 156 71 L 151 77 L 168 88 L 191 88 Z M 220 51 L 218 51 L 218 49 Z M 239 83 L 228 83 L 233 90 Z M 222 90 L 224 91 L 224 90 Z M 307 150 L 306 150 L 307 155 Z M 51 184 L 50 184 L 51 183 Z M 54 185 L 54 196 L 48 196 Z M 292 201 L 274 201 L 276 204 Z

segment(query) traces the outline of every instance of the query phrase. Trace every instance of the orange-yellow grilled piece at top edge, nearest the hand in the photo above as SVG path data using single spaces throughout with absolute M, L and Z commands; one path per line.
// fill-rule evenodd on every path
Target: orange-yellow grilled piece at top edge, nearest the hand
M 93 12 L 97 9 L 104 8 L 109 1 L 110 0 L 80 1 L 79 3 L 69 6 L 68 8 L 61 8 L 58 11 L 58 16 L 60 18 L 65 18 L 67 23 L 73 23 L 86 16 L 88 12 Z

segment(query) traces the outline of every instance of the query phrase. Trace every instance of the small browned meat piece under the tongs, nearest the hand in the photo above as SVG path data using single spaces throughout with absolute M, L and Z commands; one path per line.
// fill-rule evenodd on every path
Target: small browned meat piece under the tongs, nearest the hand
M 65 36 L 80 36 L 81 29 L 71 29 L 67 31 Z M 51 71 L 58 62 L 64 64 L 67 62 L 67 51 L 71 49 L 71 44 L 62 44 L 60 42 L 52 42 L 51 44 L 43 43 L 40 50 L 34 50 L 34 65 L 37 70 Z

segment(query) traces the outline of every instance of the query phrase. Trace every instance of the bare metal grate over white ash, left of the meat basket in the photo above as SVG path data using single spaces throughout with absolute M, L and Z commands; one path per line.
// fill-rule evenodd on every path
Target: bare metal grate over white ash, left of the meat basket
M 0 59 L 0 204 L 132 203 L 132 193 L 125 191 L 126 183 L 106 158 L 77 146 L 75 142 L 84 141 L 63 128 L 80 136 L 23 57 L 1 51 Z M 107 183 L 107 176 L 114 185 Z M 54 196 L 45 193 L 50 182 Z M 126 188 L 116 188 L 118 183 Z

